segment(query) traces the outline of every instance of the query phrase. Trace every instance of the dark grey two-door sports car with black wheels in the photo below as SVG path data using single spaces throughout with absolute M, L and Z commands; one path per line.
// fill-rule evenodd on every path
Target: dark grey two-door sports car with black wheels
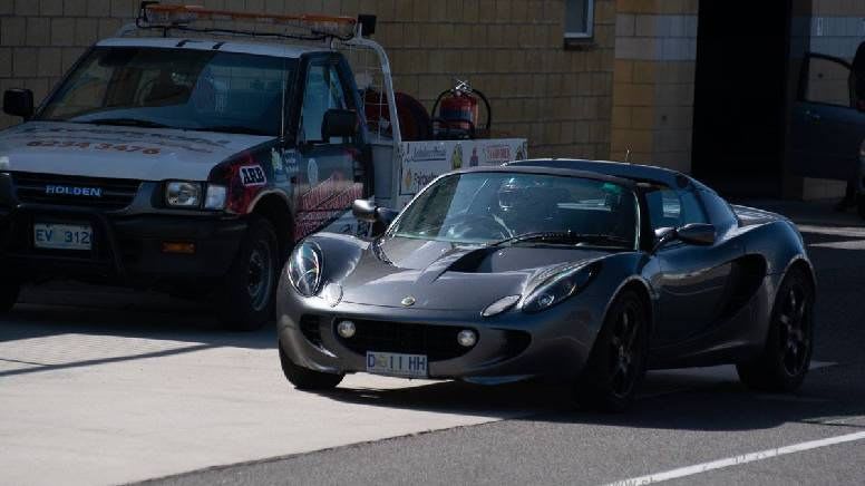
M 552 377 L 621 410 L 647 369 L 735 363 L 754 388 L 808 371 L 815 280 L 796 226 L 672 171 L 521 161 L 456 171 L 368 241 L 299 244 L 278 294 L 285 377 L 499 383 Z

